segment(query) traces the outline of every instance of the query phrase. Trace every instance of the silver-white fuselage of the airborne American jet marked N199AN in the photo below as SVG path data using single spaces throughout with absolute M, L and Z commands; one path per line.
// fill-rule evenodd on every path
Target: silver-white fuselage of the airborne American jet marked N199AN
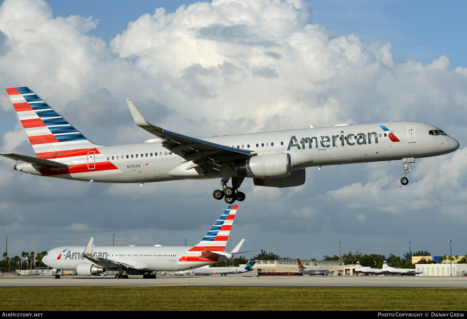
M 203 140 L 257 154 L 289 153 L 291 170 L 309 166 L 423 158 L 453 152 L 459 143 L 439 128 L 417 122 L 338 125 L 313 129 L 213 136 Z M 442 132 L 442 131 L 441 131 Z M 153 142 L 97 146 L 88 153 L 52 160 L 72 164 L 63 169 L 42 168 L 44 176 L 106 182 L 144 183 L 165 180 L 219 178 L 219 170 L 199 174 L 193 164 Z

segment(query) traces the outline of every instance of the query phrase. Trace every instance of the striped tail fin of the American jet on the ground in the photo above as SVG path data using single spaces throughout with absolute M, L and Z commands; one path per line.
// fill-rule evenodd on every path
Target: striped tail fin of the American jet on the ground
M 230 229 L 232 228 L 237 208 L 238 205 L 230 205 L 226 211 L 220 215 L 217 222 L 212 225 L 212 228 L 209 229 L 203 240 L 190 251 L 224 251 L 226 249 L 227 239 L 229 238 Z

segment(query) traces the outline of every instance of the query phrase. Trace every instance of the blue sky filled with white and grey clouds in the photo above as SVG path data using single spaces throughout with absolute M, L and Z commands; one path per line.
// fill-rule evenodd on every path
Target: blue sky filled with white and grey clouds
M 247 238 L 246 250 L 319 259 L 339 254 L 339 239 L 343 252 L 386 256 L 402 256 L 409 241 L 412 250 L 444 255 L 453 239 L 453 254 L 467 254 L 467 5 L 236 1 L 244 6 L 197 3 L 170 14 L 189 3 L 6 0 L 0 83 L 29 86 L 106 145 L 152 138 L 134 125 L 125 97 L 151 123 L 193 137 L 391 120 L 437 125 L 460 149 L 417 159 L 405 188 L 399 162 L 310 168 L 304 186 L 287 189 L 245 181 L 229 244 Z M 158 7 L 167 13 L 155 15 Z M 0 106 L 1 152 L 33 155 L 6 94 Z M 140 188 L 41 178 L 13 165 L 0 159 L 0 237 L 17 240 L 20 253 L 91 236 L 108 244 L 113 231 L 125 244 L 197 243 L 226 207 L 211 196 L 218 180 Z

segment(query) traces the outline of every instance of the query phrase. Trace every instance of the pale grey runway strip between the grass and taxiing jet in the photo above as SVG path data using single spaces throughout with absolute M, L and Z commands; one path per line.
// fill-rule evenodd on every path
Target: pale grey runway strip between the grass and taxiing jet
M 167 286 L 223 286 L 223 287 L 366 287 L 366 288 L 457 288 L 467 289 L 467 277 L 401 277 L 401 276 L 196 276 L 143 279 L 106 277 L 21 276 L 0 277 L 0 288 L 12 287 L 167 287 Z

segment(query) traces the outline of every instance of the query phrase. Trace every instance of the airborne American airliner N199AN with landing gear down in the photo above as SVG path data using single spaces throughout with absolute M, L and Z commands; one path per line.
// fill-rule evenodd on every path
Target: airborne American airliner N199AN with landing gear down
M 7 89 L 37 157 L 0 155 L 20 161 L 15 170 L 69 180 L 140 183 L 220 179 L 213 197 L 243 201 L 242 181 L 257 186 L 305 183 L 305 167 L 402 160 L 401 183 L 409 163 L 451 153 L 459 142 L 438 127 L 388 122 L 192 138 L 164 130 L 142 116 L 127 98 L 136 125 L 156 135 L 144 143 L 102 146 L 86 139 L 28 87 Z M 318 169 L 319 169 L 318 168 Z M 232 187 L 227 182 L 232 181 Z

